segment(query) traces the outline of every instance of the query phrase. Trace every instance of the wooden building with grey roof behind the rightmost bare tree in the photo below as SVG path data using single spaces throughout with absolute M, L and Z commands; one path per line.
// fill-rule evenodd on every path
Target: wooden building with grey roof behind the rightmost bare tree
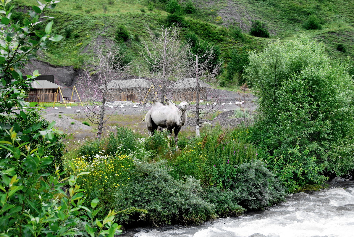
M 210 88 L 211 85 L 205 82 L 199 82 L 199 101 L 206 100 L 207 88 Z M 196 79 L 195 78 L 185 78 L 177 81 L 173 85 L 172 96 L 174 101 L 187 101 L 193 102 L 196 101 Z

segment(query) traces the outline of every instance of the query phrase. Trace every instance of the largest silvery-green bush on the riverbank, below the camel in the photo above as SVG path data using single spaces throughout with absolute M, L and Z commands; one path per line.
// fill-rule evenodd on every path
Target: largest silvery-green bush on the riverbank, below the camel
M 214 205 L 202 200 L 202 188 L 197 180 L 173 179 L 164 164 L 138 164 L 132 172 L 130 184 L 116 189 L 115 208 L 130 207 L 148 211 L 144 215 L 118 214 L 122 224 L 201 224 L 216 217 Z

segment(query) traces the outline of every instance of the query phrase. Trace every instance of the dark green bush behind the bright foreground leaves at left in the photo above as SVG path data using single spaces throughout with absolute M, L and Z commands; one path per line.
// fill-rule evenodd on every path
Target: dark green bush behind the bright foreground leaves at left
M 45 130 L 48 128 L 50 123 L 48 120 L 42 118 L 38 112 L 32 111 L 26 113 L 25 118 L 23 117 L 17 117 L 13 115 L 6 115 L 0 116 L 0 124 L 7 124 L 7 125 L 13 125 L 14 126 L 14 131 L 15 132 L 20 132 L 22 131 L 24 134 L 27 132 L 25 131 L 30 131 L 31 129 L 35 128 L 36 126 L 39 126 L 40 129 Z M 63 152 L 65 149 L 65 144 L 63 143 L 63 137 L 64 135 L 59 135 L 55 134 L 54 135 L 56 138 L 56 141 L 52 143 L 52 146 L 48 147 L 44 151 L 45 156 L 53 156 L 53 162 L 51 165 L 48 165 L 47 171 L 48 173 L 54 173 L 55 171 L 55 164 L 56 165 L 61 165 L 62 164 L 62 159 L 61 157 L 63 156 Z M 29 148 L 35 149 L 37 146 L 46 146 L 46 143 L 48 142 L 48 139 L 42 136 L 32 136 L 32 135 L 22 135 L 21 139 L 24 142 L 30 142 L 28 145 Z M 26 151 L 25 147 L 21 148 L 22 152 Z M 0 149 L 0 157 L 6 157 L 8 151 L 5 149 Z

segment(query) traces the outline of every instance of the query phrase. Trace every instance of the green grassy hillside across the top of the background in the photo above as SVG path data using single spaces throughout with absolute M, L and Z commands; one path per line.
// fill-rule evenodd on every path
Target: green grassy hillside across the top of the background
M 150 2 L 150 10 L 148 10 Z M 119 25 L 126 26 L 130 39 L 125 42 L 132 58 L 139 60 L 141 40 L 147 37 L 146 27 L 156 29 L 166 24 L 169 13 L 167 0 L 61 0 L 47 15 L 55 17 L 54 30 L 65 38 L 53 43 L 41 55 L 41 60 L 57 66 L 80 68 L 90 57 L 89 44 L 93 38 L 114 38 Z M 187 1 L 180 0 L 182 8 Z M 152 7 L 152 3 L 154 6 Z M 354 0 L 193 0 L 195 13 L 184 14 L 182 36 L 194 32 L 200 38 L 216 44 L 225 62 L 234 49 L 241 47 L 262 50 L 269 41 L 292 39 L 309 34 L 322 40 L 334 58 L 354 57 Z M 35 0 L 15 0 L 21 12 L 36 5 Z M 303 25 L 314 15 L 322 29 L 306 30 Z M 267 24 L 270 38 L 248 34 L 252 21 Z M 241 27 L 241 38 L 230 32 L 233 25 Z

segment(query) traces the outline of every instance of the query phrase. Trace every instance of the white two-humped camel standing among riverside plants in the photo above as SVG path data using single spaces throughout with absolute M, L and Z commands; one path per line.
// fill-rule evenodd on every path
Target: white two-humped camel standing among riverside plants
M 153 135 L 155 130 L 159 127 L 167 128 L 167 131 L 169 131 L 169 138 L 171 137 L 172 129 L 174 128 L 175 145 L 176 149 L 178 149 L 178 132 L 187 120 L 186 112 L 189 104 L 183 101 L 177 108 L 169 99 L 166 99 L 165 102 L 166 105 L 162 105 L 162 103 L 153 99 L 152 108 L 147 112 L 144 119 L 146 128 L 148 129 L 149 135 Z

